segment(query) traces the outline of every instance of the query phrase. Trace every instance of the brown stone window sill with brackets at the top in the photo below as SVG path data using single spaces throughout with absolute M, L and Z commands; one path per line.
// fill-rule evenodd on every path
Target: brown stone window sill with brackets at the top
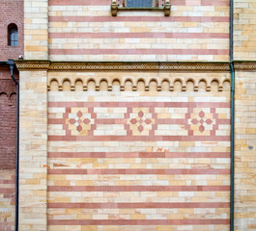
M 164 16 L 170 16 L 171 4 L 169 1 L 166 1 L 164 7 L 128 8 L 128 7 L 119 7 L 118 4 L 116 3 L 116 0 L 112 0 L 112 4 L 111 4 L 112 16 L 117 16 L 117 12 L 119 11 L 120 12 L 132 12 L 132 11 L 164 12 Z

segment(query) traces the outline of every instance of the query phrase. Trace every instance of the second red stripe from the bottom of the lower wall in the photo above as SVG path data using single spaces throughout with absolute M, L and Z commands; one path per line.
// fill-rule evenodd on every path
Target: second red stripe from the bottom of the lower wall
M 229 208 L 229 202 L 186 202 L 186 203 L 48 203 L 54 209 L 180 209 L 180 208 Z

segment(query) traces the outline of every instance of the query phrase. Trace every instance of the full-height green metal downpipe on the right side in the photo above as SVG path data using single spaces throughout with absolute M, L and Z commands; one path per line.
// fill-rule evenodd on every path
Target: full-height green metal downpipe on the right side
M 231 70 L 231 160 L 230 160 L 230 231 L 234 231 L 235 197 L 235 69 L 233 63 L 234 0 L 230 0 L 230 70 Z

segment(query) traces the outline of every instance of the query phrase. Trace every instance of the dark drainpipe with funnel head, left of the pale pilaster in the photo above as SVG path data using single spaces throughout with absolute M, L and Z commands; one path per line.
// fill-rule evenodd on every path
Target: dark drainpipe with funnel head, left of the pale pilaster
M 16 85 L 16 170 L 15 170 L 15 231 L 18 231 L 18 179 L 19 179 L 19 84 L 14 77 L 14 60 L 8 60 L 11 77 Z

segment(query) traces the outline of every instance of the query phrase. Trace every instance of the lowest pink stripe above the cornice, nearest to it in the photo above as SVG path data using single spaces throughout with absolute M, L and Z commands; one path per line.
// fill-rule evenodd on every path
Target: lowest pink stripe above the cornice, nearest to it
M 49 55 L 228 55 L 228 49 L 49 49 Z

